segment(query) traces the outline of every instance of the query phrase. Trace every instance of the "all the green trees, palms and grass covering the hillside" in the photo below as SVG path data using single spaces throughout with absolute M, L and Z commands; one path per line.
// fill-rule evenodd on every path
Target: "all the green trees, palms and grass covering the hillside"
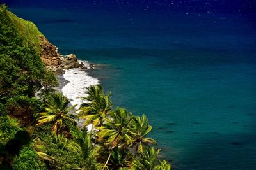
M 100 85 L 86 89 L 74 115 L 75 106 L 54 91 L 56 78 L 38 55 L 35 25 L 4 4 L 0 18 L 0 169 L 171 168 L 157 159 L 157 143 L 147 138 L 147 117 L 113 109 L 111 93 Z

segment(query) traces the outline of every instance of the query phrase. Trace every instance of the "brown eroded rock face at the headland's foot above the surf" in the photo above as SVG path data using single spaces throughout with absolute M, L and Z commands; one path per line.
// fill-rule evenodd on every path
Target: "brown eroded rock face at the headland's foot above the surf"
M 72 69 L 72 68 L 85 68 L 83 63 L 78 62 L 76 55 L 61 55 L 58 52 L 58 48 L 44 37 L 41 37 L 41 59 L 44 62 L 47 69 L 52 71 L 61 72 L 63 69 Z

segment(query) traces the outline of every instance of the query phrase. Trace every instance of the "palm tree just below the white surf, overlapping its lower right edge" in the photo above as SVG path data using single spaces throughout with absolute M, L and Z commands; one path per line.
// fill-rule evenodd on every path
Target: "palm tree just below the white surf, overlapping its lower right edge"
M 102 121 L 112 109 L 113 103 L 109 99 L 111 92 L 104 94 L 100 85 L 93 85 L 88 89 L 88 96 L 82 97 L 90 103 L 82 104 L 79 110 L 79 117 L 85 120 L 84 126 L 92 124 L 93 127 L 101 126 Z

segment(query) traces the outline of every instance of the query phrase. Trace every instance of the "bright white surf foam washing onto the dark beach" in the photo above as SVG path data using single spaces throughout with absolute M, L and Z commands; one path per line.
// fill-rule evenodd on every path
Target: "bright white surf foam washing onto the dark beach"
M 86 63 L 87 64 L 87 63 Z M 77 104 L 76 109 L 79 109 L 84 101 L 79 97 L 86 97 L 86 87 L 91 85 L 97 85 L 100 81 L 97 78 L 88 76 L 88 73 L 81 69 L 69 69 L 63 74 L 63 78 L 69 82 L 62 88 L 63 94 L 70 100 L 70 103 L 74 106 Z M 79 122 L 81 125 L 83 122 Z M 87 127 L 88 131 L 92 127 Z

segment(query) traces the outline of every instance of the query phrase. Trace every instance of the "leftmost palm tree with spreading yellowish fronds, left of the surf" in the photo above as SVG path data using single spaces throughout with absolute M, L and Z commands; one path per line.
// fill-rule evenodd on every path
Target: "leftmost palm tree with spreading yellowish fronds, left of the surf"
M 52 127 L 52 134 L 56 134 L 62 127 L 63 120 L 75 122 L 76 115 L 70 113 L 75 107 L 68 107 L 68 99 L 62 93 L 56 93 L 52 97 L 51 104 L 44 104 L 42 107 L 46 112 L 39 113 L 41 117 L 38 118 L 38 124 L 42 125 L 48 122 L 54 122 Z

